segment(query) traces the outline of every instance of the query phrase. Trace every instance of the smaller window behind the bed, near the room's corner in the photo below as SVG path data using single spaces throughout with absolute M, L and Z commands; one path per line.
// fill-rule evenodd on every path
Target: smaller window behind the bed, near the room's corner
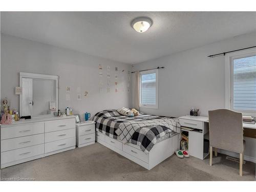
M 140 72 L 140 107 L 158 108 L 158 70 Z

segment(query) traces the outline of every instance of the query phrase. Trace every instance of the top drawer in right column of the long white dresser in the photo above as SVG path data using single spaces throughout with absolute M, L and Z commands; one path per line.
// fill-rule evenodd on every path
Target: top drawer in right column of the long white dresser
M 45 132 L 54 132 L 60 130 L 67 130 L 76 127 L 75 118 L 59 119 L 45 122 Z

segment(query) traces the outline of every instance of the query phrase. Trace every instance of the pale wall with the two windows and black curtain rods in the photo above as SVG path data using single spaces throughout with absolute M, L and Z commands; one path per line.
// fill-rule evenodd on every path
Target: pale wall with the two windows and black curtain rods
M 159 70 L 158 109 L 140 110 L 179 117 L 188 115 L 192 107 L 200 109 L 201 115 L 224 108 L 225 57 L 207 56 L 255 45 L 256 33 L 250 33 L 135 65 L 133 71 L 165 67 Z

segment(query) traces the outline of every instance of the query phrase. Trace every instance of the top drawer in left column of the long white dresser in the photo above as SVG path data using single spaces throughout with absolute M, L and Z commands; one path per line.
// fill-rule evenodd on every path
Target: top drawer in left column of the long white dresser
M 1 140 L 44 133 L 44 128 L 44 122 L 1 127 Z

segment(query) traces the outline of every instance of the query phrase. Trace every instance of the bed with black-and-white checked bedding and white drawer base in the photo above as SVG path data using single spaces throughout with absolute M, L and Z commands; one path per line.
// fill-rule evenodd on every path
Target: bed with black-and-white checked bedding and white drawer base
M 96 140 L 120 155 L 151 169 L 178 149 L 179 120 L 140 113 L 120 115 L 116 110 L 98 112 Z

